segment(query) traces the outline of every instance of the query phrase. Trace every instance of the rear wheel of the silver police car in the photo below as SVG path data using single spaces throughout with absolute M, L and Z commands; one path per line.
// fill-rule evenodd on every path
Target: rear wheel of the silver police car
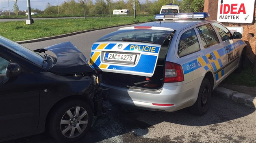
M 211 102 L 212 90 L 210 81 L 205 78 L 199 89 L 197 100 L 194 105 L 190 107 L 190 111 L 195 115 L 204 115 L 208 110 Z

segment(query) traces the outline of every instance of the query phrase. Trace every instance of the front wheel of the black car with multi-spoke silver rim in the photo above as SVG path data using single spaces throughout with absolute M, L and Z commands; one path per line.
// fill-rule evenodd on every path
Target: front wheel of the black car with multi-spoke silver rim
M 78 100 L 62 102 L 50 115 L 49 133 L 61 143 L 72 143 L 85 136 L 91 128 L 92 119 L 91 107 L 86 102 Z

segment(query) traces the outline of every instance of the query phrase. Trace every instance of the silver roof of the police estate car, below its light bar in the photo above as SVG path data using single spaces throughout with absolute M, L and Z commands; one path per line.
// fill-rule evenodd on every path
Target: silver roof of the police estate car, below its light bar
M 168 21 L 155 21 L 155 22 L 148 22 L 148 23 L 142 23 L 139 25 L 136 25 L 135 27 L 165 27 L 165 28 L 171 28 L 171 29 L 184 29 L 186 27 L 190 27 L 193 25 L 196 25 L 198 23 L 206 22 L 208 20 L 196 20 L 196 19 L 178 19 L 178 20 L 168 20 Z

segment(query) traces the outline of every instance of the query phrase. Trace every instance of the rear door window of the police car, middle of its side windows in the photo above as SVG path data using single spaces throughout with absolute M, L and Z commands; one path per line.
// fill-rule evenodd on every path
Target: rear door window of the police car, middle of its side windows
M 210 24 L 197 27 L 197 31 L 200 34 L 204 48 L 219 44 L 218 37 Z

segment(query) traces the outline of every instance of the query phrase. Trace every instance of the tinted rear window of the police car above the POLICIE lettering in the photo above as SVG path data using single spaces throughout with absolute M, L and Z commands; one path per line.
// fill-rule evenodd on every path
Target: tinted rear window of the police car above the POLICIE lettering
M 171 31 L 152 30 L 152 29 L 126 29 L 118 30 L 107 34 L 96 42 L 123 41 L 123 38 L 137 39 L 141 41 L 153 42 L 162 45 Z

